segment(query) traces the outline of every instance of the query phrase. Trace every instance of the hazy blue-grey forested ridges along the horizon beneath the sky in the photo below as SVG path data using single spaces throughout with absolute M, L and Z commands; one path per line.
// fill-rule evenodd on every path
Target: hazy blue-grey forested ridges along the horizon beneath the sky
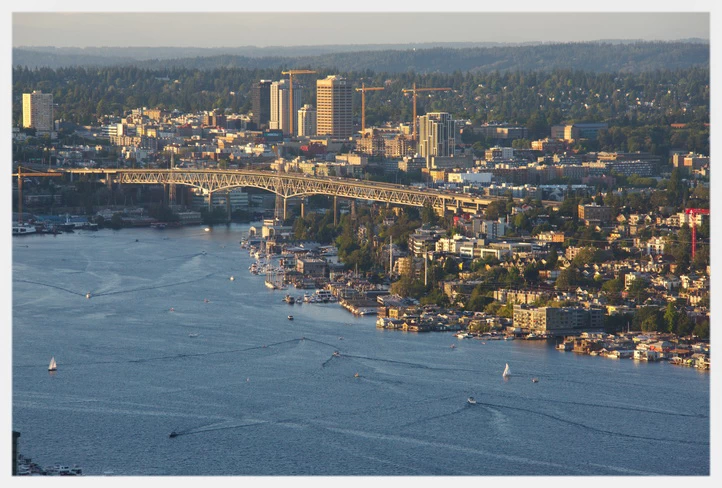
M 451 73 L 548 71 L 641 72 L 709 66 L 709 42 L 608 40 L 579 43 L 422 43 L 287 47 L 29 47 L 13 49 L 13 66 L 136 66 L 143 69 L 286 69 Z

